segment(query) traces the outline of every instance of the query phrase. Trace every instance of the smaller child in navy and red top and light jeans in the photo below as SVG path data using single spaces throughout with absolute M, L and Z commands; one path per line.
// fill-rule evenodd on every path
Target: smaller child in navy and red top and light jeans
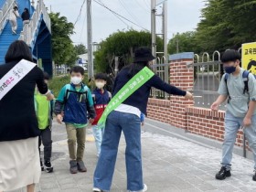
M 107 104 L 112 99 L 112 94 L 104 87 L 107 83 L 107 75 L 104 73 L 98 73 L 94 77 L 96 89 L 92 91 L 92 98 L 94 102 L 94 109 L 96 112 L 96 118 L 92 123 L 92 133 L 95 138 L 95 144 L 97 149 L 97 156 L 101 154 L 101 141 L 104 133 L 104 128 L 99 129 L 97 126 L 98 121 L 101 119 L 101 115 L 107 107 Z

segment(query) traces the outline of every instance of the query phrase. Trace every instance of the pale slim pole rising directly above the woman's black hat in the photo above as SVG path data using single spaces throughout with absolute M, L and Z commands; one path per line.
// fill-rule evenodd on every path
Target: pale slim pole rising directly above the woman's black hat
M 151 35 L 152 35 L 152 54 L 156 57 L 156 34 L 155 34 L 155 0 L 151 0 Z

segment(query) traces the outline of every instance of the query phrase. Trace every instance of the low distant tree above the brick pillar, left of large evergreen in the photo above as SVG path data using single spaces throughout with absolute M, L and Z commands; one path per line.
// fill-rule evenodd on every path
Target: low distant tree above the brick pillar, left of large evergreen
M 200 48 L 197 46 L 196 31 L 177 33 L 169 40 L 168 53 L 174 54 L 178 52 L 200 52 Z

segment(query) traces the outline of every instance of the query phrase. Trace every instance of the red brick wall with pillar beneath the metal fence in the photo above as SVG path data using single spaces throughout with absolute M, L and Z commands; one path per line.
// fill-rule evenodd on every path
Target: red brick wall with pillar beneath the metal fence
M 186 62 L 192 59 L 174 60 L 170 63 L 170 82 L 182 90 L 193 90 L 194 71 L 187 69 Z M 210 109 L 197 108 L 193 101 L 183 97 L 171 96 L 169 100 L 149 99 L 148 118 L 169 123 L 177 128 L 186 129 L 210 139 L 223 141 L 225 112 L 211 112 Z M 237 137 L 236 144 L 242 146 L 242 133 Z

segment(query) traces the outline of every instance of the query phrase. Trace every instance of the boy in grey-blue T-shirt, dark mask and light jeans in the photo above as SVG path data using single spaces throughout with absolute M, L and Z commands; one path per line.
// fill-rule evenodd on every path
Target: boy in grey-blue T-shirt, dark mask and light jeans
M 221 61 L 226 74 L 223 75 L 219 85 L 219 98 L 211 105 L 213 111 L 218 111 L 219 105 L 228 99 L 222 167 L 216 175 L 216 179 L 219 180 L 231 176 L 232 150 L 240 127 L 248 139 L 254 156 L 254 171 L 256 170 L 256 80 L 251 73 L 240 68 L 238 51 L 227 50 Z M 252 179 L 256 181 L 256 172 Z

